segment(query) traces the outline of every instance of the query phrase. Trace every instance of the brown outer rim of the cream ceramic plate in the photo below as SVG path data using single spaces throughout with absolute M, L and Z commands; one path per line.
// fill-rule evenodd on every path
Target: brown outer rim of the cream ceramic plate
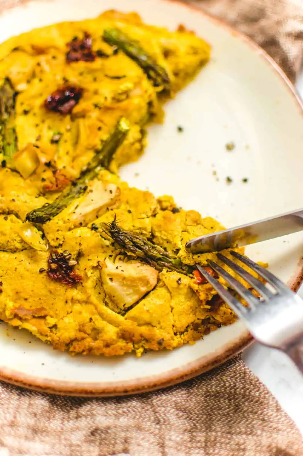
M 21 0 L 20 3 L 11 4 L 6 3 L 0 7 L 0 13 L 5 10 L 20 8 L 26 3 L 32 0 Z M 35 0 L 34 0 L 35 1 Z M 211 13 L 199 8 L 196 5 L 190 5 L 184 3 L 181 0 L 161 0 L 166 3 L 177 4 L 184 8 L 189 8 L 215 22 L 218 26 L 224 27 L 230 31 L 234 36 L 247 43 L 254 52 L 257 52 L 265 63 L 277 73 L 281 81 L 287 86 L 288 92 L 295 98 L 298 108 L 303 114 L 303 101 L 300 98 L 296 88 L 290 81 L 288 76 L 284 73 L 281 67 L 273 60 L 267 52 L 262 49 L 255 41 L 243 32 L 236 30 L 230 24 L 223 20 L 213 16 Z M 288 287 L 297 292 L 303 283 L 303 256 L 301 255 L 295 272 L 292 277 L 288 280 Z M 34 375 L 26 373 L 20 373 L 20 371 L 10 368 L 0 368 L 0 381 L 21 386 L 27 389 L 33 389 L 36 391 L 61 394 L 65 396 L 87 396 L 87 397 L 110 397 L 110 396 L 125 396 L 130 394 L 139 394 L 148 391 L 154 391 L 157 389 L 167 388 L 177 383 L 184 382 L 190 378 L 196 377 L 201 373 L 205 373 L 219 365 L 225 363 L 229 359 L 236 356 L 246 347 L 253 342 L 253 337 L 247 330 L 243 330 L 241 335 L 235 341 L 227 342 L 218 348 L 215 352 L 208 353 L 206 355 L 197 358 L 195 361 L 187 363 L 182 367 L 173 368 L 166 373 L 160 373 L 157 375 L 149 375 L 147 377 L 141 377 L 139 379 L 131 380 L 120 380 L 117 382 L 71 382 L 68 380 L 56 380 L 50 378 L 37 378 Z

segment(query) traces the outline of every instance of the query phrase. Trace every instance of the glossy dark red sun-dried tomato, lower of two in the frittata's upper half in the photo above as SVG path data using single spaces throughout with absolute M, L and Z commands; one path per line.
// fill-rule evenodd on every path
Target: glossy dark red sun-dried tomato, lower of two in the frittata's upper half
M 79 103 L 82 93 L 83 89 L 81 87 L 65 86 L 58 88 L 46 98 L 44 106 L 50 111 L 69 114 Z

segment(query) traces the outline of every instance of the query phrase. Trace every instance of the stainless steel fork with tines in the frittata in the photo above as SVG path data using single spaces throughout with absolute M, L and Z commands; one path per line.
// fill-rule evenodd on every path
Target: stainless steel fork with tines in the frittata
M 247 302 L 248 307 L 243 306 L 200 264 L 196 264 L 195 267 L 237 316 L 244 321 L 247 329 L 258 342 L 287 353 L 303 373 L 303 300 L 267 269 L 237 252 L 231 251 L 230 253 L 271 285 L 271 288 L 264 285 L 247 270 L 218 253 L 218 259 L 257 290 L 261 296 L 261 298 L 257 298 L 225 269 L 209 260 L 209 266 Z

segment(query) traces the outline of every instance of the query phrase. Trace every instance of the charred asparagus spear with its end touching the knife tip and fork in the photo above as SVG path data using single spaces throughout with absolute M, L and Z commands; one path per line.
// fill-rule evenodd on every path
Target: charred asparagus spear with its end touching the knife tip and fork
M 95 227 L 98 225 L 95 225 Z M 95 229 L 95 227 L 93 229 Z M 121 249 L 128 254 L 133 254 L 155 269 L 162 270 L 163 268 L 177 271 L 182 274 L 191 275 L 194 268 L 183 264 L 182 261 L 175 255 L 165 252 L 159 245 L 152 244 L 147 239 L 141 238 L 137 234 L 123 231 L 116 224 L 116 217 L 111 223 L 102 223 L 103 231 L 115 241 Z

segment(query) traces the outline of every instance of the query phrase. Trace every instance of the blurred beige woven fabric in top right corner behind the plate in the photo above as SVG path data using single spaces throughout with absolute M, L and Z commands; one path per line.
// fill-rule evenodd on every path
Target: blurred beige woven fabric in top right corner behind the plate
M 302 0 L 188 0 L 263 47 L 294 82 L 303 63 Z

